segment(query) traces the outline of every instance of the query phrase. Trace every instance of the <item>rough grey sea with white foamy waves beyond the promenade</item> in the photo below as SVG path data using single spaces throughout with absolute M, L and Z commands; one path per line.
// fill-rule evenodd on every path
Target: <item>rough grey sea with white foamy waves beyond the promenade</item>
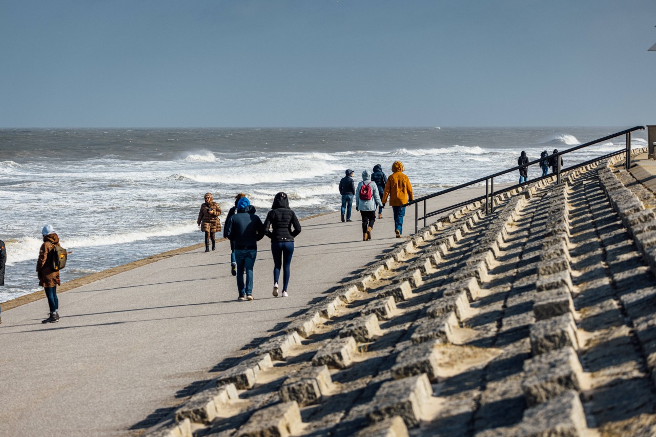
M 0 302 L 39 290 L 35 260 L 47 223 L 73 252 L 67 281 L 201 243 L 196 219 L 208 191 L 224 214 L 245 192 L 262 216 L 284 191 L 308 217 L 338 211 L 347 168 L 357 181 L 375 164 L 389 175 L 400 160 L 419 197 L 514 167 L 522 150 L 537 159 L 626 128 L 3 129 Z M 646 133 L 636 131 L 632 147 L 642 146 Z M 624 147 L 624 137 L 592 146 L 565 156 L 565 166 Z

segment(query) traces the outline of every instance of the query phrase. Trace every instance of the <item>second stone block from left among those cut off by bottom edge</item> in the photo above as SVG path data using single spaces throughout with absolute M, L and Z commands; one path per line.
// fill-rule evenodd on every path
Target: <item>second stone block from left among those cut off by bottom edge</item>
M 287 437 L 302 423 L 296 402 L 282 402 L 255 411 L 237 431 L 239 437 Z

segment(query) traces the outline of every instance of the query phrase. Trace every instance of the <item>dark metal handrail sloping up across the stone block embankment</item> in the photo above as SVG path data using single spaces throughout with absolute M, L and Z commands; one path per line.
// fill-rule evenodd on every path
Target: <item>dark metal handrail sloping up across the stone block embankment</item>
M 560 156 L 571 153 L 571 152 L 575 152 L 576 150 L 579 150 L 579 149 L 582 149 L 582 148 L 585 148 L 585 147 L 588 147 L 588 146 L 592 146 L 594 144 L 598 144 L 598 143 L 606 141 L 606 140 L 610 140 L 611 138 L 617 138 L 617 136 L 626 135 L 626 147 L 623 150 L 618 150 L 617 152 L 611 152 L 609 154 L 605 154 L 603 156 L 596 157 L 594 159 L 590 159 L 588 161 L 585 161 L 584 163 L 579 163 L 577 165 L 572 165 L 571 167 L 567 167 L 565 169 L 560 168 L 560 159 L 557 159 L 556 165 L 558 167 L 556 169 L 556 184 L 560 184 L 560 175 L 564 171 L 571 171 L 573 169 L 578 169 L 579 167 L 584 167 L 585 165 L 594 163 L 596 161 L 601 161 L 602 159 L 607 159 L 608 157 L 616 156 L 616 155 L 620 155 L 620 154 L 624 154 L 624 153 L 626 154 L 625 166 L 626 166 L 626 169 L 628 170 L 629 167 L 630 167 L 630 164 L 631 164 L 631 133 L 633 131 L 638 131 L 640 129 L 645 129 L 645 127 L 644 126 L 632 127 L 630 129 L 625 129 L 624 131 L 620 131 L 620 132 L 617 132 L 617 133 L 614 133 L 614 134 L 611 134 L 611 135 L 604 136 L 603 138 L 598 138 L 596 140 L 586 142 L 584 144 L 579 144 L 578 146 L 574 146 L 574 147 L 569 148 L 567 150 L 564 150 L 562 152 L 558 152 L 557 154 L 550 154 L 549 158 L 554 157 L 554 156 L 557 156 L 557 157 L 560 158 Z M 433 193 L 433 194 L 427 194 L 426 196 L 422 196 L 420 198 L 413 199 L 413 200 L 409 201 L 408 203 L 405 203 L 405 205 L 402 205 L 402 206 L 407 207 L 407 206 L 410 206 L 410 205 L 415 205 L 415 233 L 417 233 L 417 230 L 418 230 L 419 220 L 424 220 L 424 226 L 426 226 L 426 219 L 429 218 L 429 217 L 433 217 L 434 215 L 438 215 L 438 214 L 443 213 L 445 211 L 449 211 L 451 209 L 456 209 L 456 208 L 462 207 L 464 205 L 468 205 L 469 203 L 473 203 L 473 202 L 480 201 L 480 200 L 483 200 L 483 199 L 485 199 L 485 213 L 486 214 L 491 213 L 491 212 L 494 211 L 494 204 L 493 204 L 493 201 L 492 201 L 494 196 L 496 196 L 497 194 L 501 194 L 501 193 L 510 191 L 510 190 L 514 190 L 518 186 L 523 185 L 523 184 L 516 184 L 516 185 L 510 186 L 510 187 L 504 188 L 502 190 L 497 190 L 495 192 L 494 178 L 502 176 L 502 175 L 506 175 L 508 173 L 512 173 L 512 172 L 517 171 L 519 169 L 523 169 L 524 167 L 528 167 L 529 165 L 537 164 L 540 161 L 544 161 L 544 159 L 535 159 L 535 161 L 529 161 L 529 163 L 518 165 L 516 167 L 512 167 L 510 169 L 506 169 L 506 170 L 503 170 L 503 171 L 499 171 L 497 173 L 493 173 L 492 175 L 487 175 L 487 176 L 482 177 L 482 178 L 470 180 L 470 182 L 465 182 L 464 184 L 453 186 L 451 188 L 447 188 L 446 190 L 442 190 L 442 191 L 439 191 L 439 192 L 436 192 L 436 193 Z M 550 178 L 550 177 L 554 177 L 554 174 L 552 173 L 550 175 L 542 176 L 542 177 L 539 177 L 539 178 L 533 178 L 531 180 L 533 180 L 533 181 L 542 180 L 542 179 L 546 179 L 546 178 Z M 478 184 L 480 182 L 483 182 L 483 180 L 485 181 L 485 196 L 480 196 L 478 198 L 469 199 L 469 200 L 466 200 L 466 201 L 461 201 L 459 203 L 455 203 L 453 205 L 449 205 L 447 207 L 442 207 L 442 208 L 437 209 L 435 211 L 431 211 L 430 213 L 426 212 L 426 201 L 428 199 L 436 198 L 438 196 L 442 196 L 443 194 L 447 194 L 447 193 L 450 193 L 450 192 L 461 190 L 462 188 L 467 188 L 468 186 L 472 186 L 474 184 Z M 524 184 L 525 183 L 526 182 L 524 182 Z M 423 217 L 419 217 L 419 202 L 424 202 L 424 215 L 423 215 Z

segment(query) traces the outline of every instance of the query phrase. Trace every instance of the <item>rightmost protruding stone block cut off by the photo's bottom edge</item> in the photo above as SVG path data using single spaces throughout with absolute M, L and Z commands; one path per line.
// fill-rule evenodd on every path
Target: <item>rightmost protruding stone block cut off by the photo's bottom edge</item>
M 584 437 L 588 435 L 579 394 L 569 390 L 524 411 L 522 436 Z

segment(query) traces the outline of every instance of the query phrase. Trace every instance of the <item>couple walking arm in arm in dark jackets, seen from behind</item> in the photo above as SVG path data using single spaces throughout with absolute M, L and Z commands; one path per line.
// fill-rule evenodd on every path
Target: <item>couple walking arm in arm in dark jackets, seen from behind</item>
M 273 295 L 277 297 L 279 294 L 278 281 L 282 270 L 282 297 L 287 297 L 294 238 L 301 230 L 296 214 L 289 207 L 287 194 L 283 192 L 276 194 L 264 223 L 255 214 L 255 207 L 251 205 L 246 195 L 237 194 L 235 206 L 228 211 L 224 229 L 224 237 L 230 239 L 232 249 L 230 255 L 232 274 L 237 276 L 239 292 L 237 300 L 253 301 L 253 266 L 257 257 L 257 242 L 265 235 L 271 239 L 271 253 L 274 258 Z M 244 274 L 246 274 L 245 281 Z

